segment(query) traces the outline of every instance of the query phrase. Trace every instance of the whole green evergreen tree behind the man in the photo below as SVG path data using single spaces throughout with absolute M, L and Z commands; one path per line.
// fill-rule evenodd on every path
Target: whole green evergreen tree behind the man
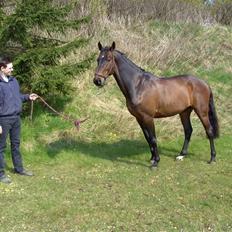
M 55 33 L 78 30 L 91 19 L 89 16 L 69 19 L 77 3 L 58 6 L 52 2 L 12 1 L 12 13 L 4 11 L 9 1 L 0 5 L 0 52 L 13 58 L 15 75 L 23 90 L 46 95 L 46 99 L 69 94 L 71 77 L 88 69 L 93 59 L 92 54 L 80 63 L 59 64 L 61 57 L 85 46 L 88 38 L 61 41 L 55 38 Z

